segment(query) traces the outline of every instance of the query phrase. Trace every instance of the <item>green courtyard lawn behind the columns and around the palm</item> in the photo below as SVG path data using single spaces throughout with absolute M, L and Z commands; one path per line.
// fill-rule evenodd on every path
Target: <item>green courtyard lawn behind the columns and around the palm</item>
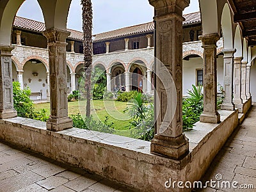
M 85 116 L 86 100 L 68 102 L 68 116 L 80 113 Z M 108 116 L 109 122 L 114 123 L 116 131 L 114 134 L 122 136 L 130 136 L 129 121 L 131 117 L 127 113 L 123 113 L 127 108 L 127 102 L 119 102 L 115 100 L 92 100 L 91 109 L 92 116 L 95 120 L 104 121 Z M 46 109 L 47 115 L 50 115 L 50 103 L 35 104 L 36 111 Z

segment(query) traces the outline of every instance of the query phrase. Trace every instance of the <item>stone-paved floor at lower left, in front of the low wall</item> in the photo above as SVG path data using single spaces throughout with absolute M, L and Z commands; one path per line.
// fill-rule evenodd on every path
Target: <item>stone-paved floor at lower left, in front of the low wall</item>
M 0 192 L 12 191 L 117 192 L 131 189 L 38 154 L 0 143 Z

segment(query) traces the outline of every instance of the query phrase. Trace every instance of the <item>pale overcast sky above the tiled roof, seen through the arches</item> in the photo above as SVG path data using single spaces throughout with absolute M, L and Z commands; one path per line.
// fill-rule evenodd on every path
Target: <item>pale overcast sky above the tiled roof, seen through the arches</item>
M 154 9 L 148 0 L 92 0 L 93 34 L 111 31 L 152 21 Z M 184 14 L 198 12 L 198 0 L 191 0 Z M 82 31 L 80 0 L 72 0 L 67 28 Z M 36 0 L 26 0 L 17 13 L 20 17 L 44 22 L 44 17 Z

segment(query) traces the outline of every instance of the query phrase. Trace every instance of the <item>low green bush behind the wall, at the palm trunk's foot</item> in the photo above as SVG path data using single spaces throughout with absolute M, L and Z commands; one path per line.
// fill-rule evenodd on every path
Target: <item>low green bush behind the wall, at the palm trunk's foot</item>
M 83 118 L 81 114 L 71 115 L 73 120 L 73 127 L 80 129 L 88 129 L 92 131 L 113 133 L 113 122 L 108 122 L 108 116 L 106 116 L 104 122 L 93 120 L 92 116 Z

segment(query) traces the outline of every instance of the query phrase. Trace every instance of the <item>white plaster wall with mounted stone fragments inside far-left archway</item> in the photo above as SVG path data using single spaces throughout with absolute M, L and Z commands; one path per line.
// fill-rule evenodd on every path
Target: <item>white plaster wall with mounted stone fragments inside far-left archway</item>
M 42 99 L 47 99 L 47 74 L 46 74 L 46 68 L 44 64 L 31 64 L 30 61 L 28 61 L 24 65 L 24 73 L 23 73 L 23 83 L 24 88 L 30 88 L 31 93 L 40 92 L 42 90 Z M 38 76 L 33 76 L 33 72 L 38 72 Z M 29 83 L 28 79 L 31 79 L 31 83 Z M 39 79 L 42 79 L 42 81 L 39 81 Z M 27 86 L 25 86 L 27 84 Z M 45 84 L 45 86 L 43 86 Z M 36 100 L 36 97 L 31 96 L 30 97 L 33 100 Z

